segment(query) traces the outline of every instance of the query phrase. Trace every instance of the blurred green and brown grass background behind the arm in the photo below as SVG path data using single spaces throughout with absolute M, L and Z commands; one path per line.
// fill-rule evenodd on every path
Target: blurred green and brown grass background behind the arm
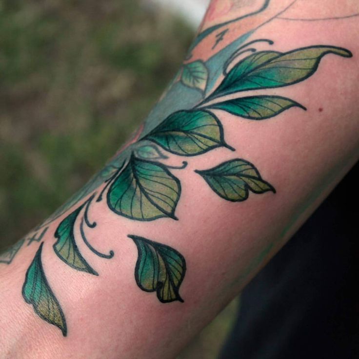
M 193 36 L 139 0 L 0 1 L 0 250 L 116 152 Z M 237 300 L 180 358 L 216 358 L 236 309 Z

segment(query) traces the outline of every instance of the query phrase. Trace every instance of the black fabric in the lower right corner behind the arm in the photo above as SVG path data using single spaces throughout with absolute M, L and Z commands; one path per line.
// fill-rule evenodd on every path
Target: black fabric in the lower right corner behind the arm
M 358 164 L 243 290 L 220 359 L 358 359 Z

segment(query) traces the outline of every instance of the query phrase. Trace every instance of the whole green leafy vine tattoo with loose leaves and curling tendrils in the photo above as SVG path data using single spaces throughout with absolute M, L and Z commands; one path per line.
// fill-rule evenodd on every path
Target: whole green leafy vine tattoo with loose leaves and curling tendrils
M 263 8 L 268 3 L 266 1 Z M 200 33 L 194 46 L 217 28 L 222 26 Z M 225 32 L 218 34 L 218 41 Z M 28 245 L 34 241 L 40 242 L 51 221 L 82 200 L 58 225 L 54 233 L 56 242 L 53 250 L 60 260 L 74 270 L 99 276 L 91 259 L 85 259 L 77 246 L 78 240 L 82 239 L 91 252 L 101 259 L 114 257 L 114 251 L 101 253 L 90 244 L 89 236 L 97 223 L 90 221 L 89 214 L 96 203 L 105 200 L 110 211 L 129 220 L 179 220 L 176 207 L 182 187 L 176 171 L 184 169 L 187 161 L 179 166 L 165 164 L 171 155 L 190 159 L 219 147 L 235 151 L 225 142 L 225 131 L 220 120 L 223 113 L 258 121 L 271 119 L 292 108 L 306 110 L 303 105 L 289 98 L 266 94 L 246 96 L 246 91 L 284 87 L 306 80 L 316 72 L 320 60 L 327 54 L 344 58 L 352 56 L 344 48 L 329 45 L 308 46 L 287 52 L 272 49 L 257 51 L 249 47 L 259 41 L 267 46 L 273 45 L 272 40 L 259 39 L 237 47 L 235 51 L 232 51 L 231 46 L 225 48 L 226 52 L 222 50 L 217 59 L 221 61 L 222 67 L 219 74 L 218 69 L 213 67 L 213 59 L 185 63 L 179 81 L 172 84 L 161 101 L 176 98 L 178 86 L 181 86 L 182 92 L 187 89 L 192 91 L 191 94 L 199 96 L 193 96 L 192 102 L 185 99 L 185 104 L 177 101 L 182 108 L 176 108 L 162 117 L 159 116 L 162 113 L 159 103 L 159 107 L 155 107 L 131 143 L 67 204 L 41 224 L 28 239 Z M 212 88 L 215 76 L 222 78 L 219 85 Z M 228 99 L 227 95 L 232 95 L 232 98 Z M 157 120 L 154 120 L 155 117 Z M 262 178 L 255 164 L 242 158 L 222 161 L 213 168 L 195 172 L 219 200 L 241 202 L 252 194 L 276 193 L 274 186 Z M 99 192 L 100 186 L 102 188 Z M 80 231 L 76 231 L 76 228 L 80 228 Z M 77 238 L 79 232 L 80 238 Z M 138 250 L 135 267 L 138 287 L 144 292 L 156 292 L 162 303 L 183 302 L 180 296 L 180 286 L 186 273 L 183 255 L 168 245 L 136 234 L 128 234 L 128 238 L 133 240 Z M 24 241 L 22 239 L 2 253 L 0 263 L 10 264 Z M 43 242 L 27 270 L 22 295 L 26 303 L 33 305 L 41 319 L 60 328 L 63 336 L 66 336 L 65 315 L 42 267 L 42 246 Z

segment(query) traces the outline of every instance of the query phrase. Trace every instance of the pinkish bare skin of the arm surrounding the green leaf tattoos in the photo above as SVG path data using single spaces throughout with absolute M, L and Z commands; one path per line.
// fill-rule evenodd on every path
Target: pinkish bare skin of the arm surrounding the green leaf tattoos
M 41 319 L 30 295 L 25 295 L 26 302 L 21 293 L 25 274 L 39 253 L 40 243 L 33 241 L 21 246 L 9 264 L 0 262 L 0 358 L 174 358 L 278 252 L 358 159 L 359 27 L 354 15 L 359 13 L 359 5 L 343 1 L 338 9 L 332 0 L 272 0 L 268 6 L 264 6 L 266 1 L 227 1 L 227 6 L 224 2 L 219 6 L 220 2 L 213 1 L 198 38 L 214 25 L 258 13 L 207 31 L 191 48 L 184 63 L 201 60 L 209 68 L 206 95 L 216 91 L 224 78 L 222 69 L 217 78 L 213 75 L 209 59 L 217 54 L 216 66 L 223 66 L 243 43 L 231 52 L 220 50 L 234 46 L 240 36 L 253 31 L 244 42 L 274 41 L 272 45 L 258 42 L 249 46 L 257 51 L 285 53 L 319 45 L 335 46 L 336 50 L 323 55 L 316 71 L 306 79 L 281 87 L 235 92 L 223 99 L 280 96 L 298 102 L 306 110 L 296 105 L 268 119 L 251 120 L 213 109 L 211 113 L 220 121 L 228 146 L 191 156 L 179 155 L 178 150 L 175 153 L 174 145 L 166 149 L 166 145 L 152 140 L 155 147 L 151 148 L 168 157 L 156 159 L 156 163 L 180 167 L 182 161 L 188 162 L 183 169 L 167 167 L 180 181 L 180 197 L 172 216 L 178 220 L 171 216 L 138 220 L 129 218 L 123 208 L 111 209 L 108 191 L 114 187 L 105 187 L 107 182 L 102 180 L 99 186 L 95 181 L 94 188 L 90 186 L 66 211 L 30 233 L 28 238 L 33 234 L 39 237 L 47 227 L 38 259 L 65 317 L 66 332 L 63 325 Z M 226 29 L 223 40 L 214 46 L 218 34 Z M 251 54 L 239 55 L 227 72 Z M 276 76 L 279 79 L 282 75 Z M 199 87 L 180 80 L 183 78 L 178 75 L 138 133 L 111 163 L 128 163 L 129 153 L 138 148 L 146 132 L 148 136 L 173 112 L 192 109 L 203 100 Z M 139 156 L 138 150 L 136 154 Z M 245 200 L 226 200 L 195 172 L 235 159 L 253 164 L 270 187 L 257 194 L 249 191 Z M 124 177 L 118 180 L 119 186 L 121 180 Z M 96 201 L 103 189 L 103 199 Z M 60 223 L 95 192 L 88 218 L 97 225 L 84 227 L 86 238 L 98 252 L 108 255 L 112 250 L 113 258 L 94 255 L 80 239 L 80 217 L 73 235 L 83 259 L 98 276 L 71 267 L 53 247 Z M 185 259 L 183 281 L 170 302 L 161 302 L 156 292 L 140 290 L 135 280 L 138 246 L 128 235 L 170 246 Z

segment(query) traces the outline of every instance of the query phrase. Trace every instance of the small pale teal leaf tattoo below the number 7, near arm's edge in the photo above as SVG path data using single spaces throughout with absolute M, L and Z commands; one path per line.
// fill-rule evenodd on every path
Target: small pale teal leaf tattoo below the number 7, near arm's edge
M 208 80 L 208 69 L 203 61 L 197 60 L 183 65 L 181 82 L 204 92 Z

